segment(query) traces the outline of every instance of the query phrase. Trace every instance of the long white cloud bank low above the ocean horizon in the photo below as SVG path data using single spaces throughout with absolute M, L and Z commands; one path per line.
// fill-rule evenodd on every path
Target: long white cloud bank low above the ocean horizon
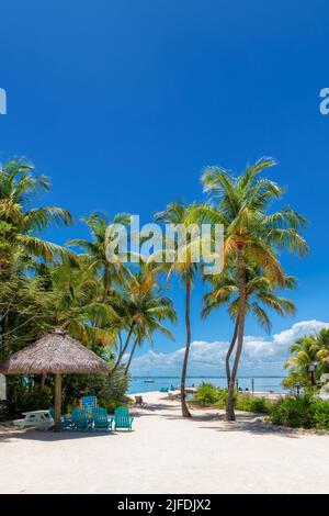
M 302 321 L 290 329 L 274 334 L 271 338 L 246 336 L 239 370 L 241 373 L 281 374 L 283 363 L 288 355 L 290 346 L 296 338 L 307 334 L 317 333 L 320 328 L 329 327 L 329 323 L 321 321 Z M 215 340 L 194 340 L 191 344 L 189 360 L 189 374 L 212 375 L 224 374 L 225 355 L 229 343 Z M 136 357 L 132 364 L 132 372 L 136 375 L 173 375 L 179 374 L 184 358 L 184 348 L 163 354 L 152 349 Z

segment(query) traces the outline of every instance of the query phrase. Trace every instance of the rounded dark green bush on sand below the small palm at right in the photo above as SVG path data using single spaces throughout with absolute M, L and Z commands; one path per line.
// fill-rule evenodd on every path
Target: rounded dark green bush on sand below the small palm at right
M 273 405 L 270 420 L 293 428 L 311 428 L 314 413 L 315 403 L 310 395 L 285 397 Z

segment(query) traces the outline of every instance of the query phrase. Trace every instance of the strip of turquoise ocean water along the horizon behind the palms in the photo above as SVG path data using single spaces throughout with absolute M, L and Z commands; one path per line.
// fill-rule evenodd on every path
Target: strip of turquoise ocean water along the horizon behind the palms
M 281 385 L 284 377 L 253 377 L 256 391 L 283 392 Z M 149 383 L 148 380 L 152 380 Z M 216 386 L 226 386 L 225 377 L 188 377 L 186 385 L 200 385 L 203 382 L 211 382 Z M 133 377 L 129 393 L 159 391 L 161 388 L 179 386 L 180 377 Z M 251 377 L 239 378 L 239 386 L 251 390 Z

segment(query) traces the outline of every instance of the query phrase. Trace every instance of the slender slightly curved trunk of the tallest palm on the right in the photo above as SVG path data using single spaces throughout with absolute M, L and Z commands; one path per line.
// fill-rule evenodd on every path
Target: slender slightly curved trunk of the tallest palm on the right
M 242 351 L 243 345 L 243 334 L 245 334 L 245 311 L 246 311 L 246 278 L 245 278 L 245 267 L 243 267 L 243 257 L 241 249 L 238 249 L 238 274 L 239 274 L 239 311 L 238 311 L 238 345 L 235 356 L 234 367 L 231 371 L 231 377 L 228 385 L 227 393 L 227 404 L 226 404 L 226 420 L 234 422 L 236 420 L 235 415 L 235 383 L 239 367 L 239 361 Z

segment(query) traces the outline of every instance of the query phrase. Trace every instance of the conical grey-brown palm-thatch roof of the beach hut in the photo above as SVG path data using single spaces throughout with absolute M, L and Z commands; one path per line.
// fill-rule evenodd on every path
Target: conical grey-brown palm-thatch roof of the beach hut
M 63 329 L 48 333 L 0 366 L 4 374 L 104 373 L 110 366 Z

